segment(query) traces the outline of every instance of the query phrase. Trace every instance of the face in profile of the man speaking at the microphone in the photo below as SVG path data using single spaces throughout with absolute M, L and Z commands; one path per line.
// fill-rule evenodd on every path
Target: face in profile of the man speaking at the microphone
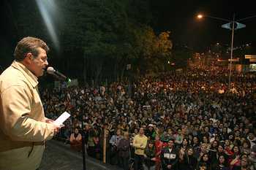
M 41 47 L 38 49 L 39 54 L 37 56 L 31 56 L 31 63 L 29 64 L 29 70 L 37 77 L 42 76 L 46 66 L 48 66 L 46 51 Z

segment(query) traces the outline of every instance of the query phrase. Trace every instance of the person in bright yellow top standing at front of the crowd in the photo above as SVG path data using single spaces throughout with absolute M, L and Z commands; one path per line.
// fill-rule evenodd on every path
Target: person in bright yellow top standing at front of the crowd
M 135 170 L 139 170 L 143 163 L 144 150 L 148 138 L 144 135 L 144 128 L 140 128 L 139 134 L 135 135 L 132 146 L 135 147 Z

